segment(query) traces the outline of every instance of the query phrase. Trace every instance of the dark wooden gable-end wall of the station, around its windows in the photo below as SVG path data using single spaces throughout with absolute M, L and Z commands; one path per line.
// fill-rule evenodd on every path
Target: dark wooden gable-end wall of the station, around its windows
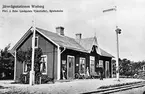
M 40 33 L 36 33 L 38 37 L 38 47 L 42 49 L 43 55 L 47 55 L 47 74 L 51 78 L 56 79 L 57 75 L 57 47 L 50 42 L 48 39 L 43 37 Z M 16 49 L 16 52 L 19 50 L 26 51 L 32 46 L 32 34 L 26 38 L 26 40 Z M 23 63 L 16 61 L 16 80 L 18 81 L 20 75 L 23 74 Z

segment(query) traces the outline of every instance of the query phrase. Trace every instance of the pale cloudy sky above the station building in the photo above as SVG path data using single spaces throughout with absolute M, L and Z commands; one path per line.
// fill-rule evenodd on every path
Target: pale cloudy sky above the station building
M 2 12 L 3 5 L 44 5 L 45 10 L 63 10 L 48 13 Z M 145 60 L 145 0 L 1 0 L 0 49 L 9 43 L 11 48 L 32 26 L 55 32 L 57 26 L 65 28 L 65 35 L 75 38 L 97 36 L 100 48 L 116 56 L 118 26 L 120 58 Z M 103 10 L 117 6 L 117 11 Z M 25 10 L 25 8 L 24 8 Z

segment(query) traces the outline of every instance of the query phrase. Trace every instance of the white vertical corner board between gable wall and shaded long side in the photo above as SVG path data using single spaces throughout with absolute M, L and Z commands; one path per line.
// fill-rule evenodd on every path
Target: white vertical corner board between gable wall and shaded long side
M 58 48 L 57 48 L 57 80 L 60 80 L 60 67 L 61 67 L 60 59 L 61 59 L 61 52 L 60 52 L 60 48 L 58 46 Z

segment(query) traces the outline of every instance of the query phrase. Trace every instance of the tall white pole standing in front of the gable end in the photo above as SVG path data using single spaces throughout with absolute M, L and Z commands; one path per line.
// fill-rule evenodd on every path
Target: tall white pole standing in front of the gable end
M 33 37 L 32 37 L 32 64 L 31 64 L 31 71 L 30 71 L 30 85 L 35 84 L 35 71 L 34 71 L 34 55 L 35 55 L 35 22 L 33 22 Z

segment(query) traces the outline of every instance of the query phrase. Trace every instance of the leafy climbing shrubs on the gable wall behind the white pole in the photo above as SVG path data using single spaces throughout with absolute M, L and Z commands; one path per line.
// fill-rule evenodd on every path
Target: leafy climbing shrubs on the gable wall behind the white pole
M 35 49 L 35 58 L 34 58 L 34 71 L 35 71 L 35 83 L 38 84 L 40 83 L 40 78 L 41 78 L 41 83 L 47 83 L 48 81 L 53 81 L 53 78 L 48 77 L 47 75 L 42 75 L 42 71 L 40 70 L 40 65 L 44 62 L 41 62 L 42 59 L 42 49 L 41 48 L 36 48 Z M 32 48 L 27 49 L 26 51 L 19 50 L 17 52 L 17 60 L 20 61 L 21 63 L 26 63 L 27 66 L 27 74 L 21 74 L 20 81 L 22 83 L 29 83 L 29 72 L 31 70 L 31 58 L 32 58 Z M 25 80 L 25 77 L 27 80 Z

